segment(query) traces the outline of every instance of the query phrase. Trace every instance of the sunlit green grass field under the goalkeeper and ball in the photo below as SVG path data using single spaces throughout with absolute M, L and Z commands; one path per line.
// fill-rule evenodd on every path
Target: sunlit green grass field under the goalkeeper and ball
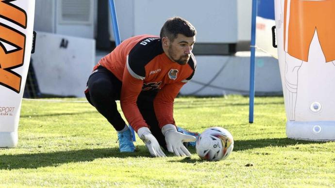
M 67 98 L 65 100 L 84 100 Z M 22 102 L 19 143 L 0 149 L 0 187 L 335 187 L 335 142 L 286 138 L 283 97 L 177 98 L 177 125 L 221 126 L 234 151 L 217 162 L 119 153 L 116 131 L 88 103 Z

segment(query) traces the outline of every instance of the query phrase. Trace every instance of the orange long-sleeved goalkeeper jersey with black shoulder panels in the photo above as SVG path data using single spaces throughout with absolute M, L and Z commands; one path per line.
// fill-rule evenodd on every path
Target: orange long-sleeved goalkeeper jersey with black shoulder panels
M 136 104 L 141 91 L 157 90 L 153 105 L 159 126 L 175 125 L 173 101 L 182 86 L 193 77 L 196 60 L 191 54 L 185 65 L 172 62 L 164 53 L 159 37 L 139 35 L 123 41 L 98 65 L 122 81 L 121 108 L 128 123 L 137 131 L 148 126 Z

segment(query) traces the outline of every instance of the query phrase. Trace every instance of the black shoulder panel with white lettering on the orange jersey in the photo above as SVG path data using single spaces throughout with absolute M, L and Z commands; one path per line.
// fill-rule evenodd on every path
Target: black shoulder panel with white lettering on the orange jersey
M 144 38 L 129 52 L 129 67 L 136 75 L 145 77 L 145 65 L 162 53 L 164 53 L 164 51 L 160 38 Z

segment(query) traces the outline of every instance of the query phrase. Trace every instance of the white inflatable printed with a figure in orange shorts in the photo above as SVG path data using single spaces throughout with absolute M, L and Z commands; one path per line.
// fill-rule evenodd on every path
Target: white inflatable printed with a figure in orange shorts
M 288 138 L 335 140 L 335 0 L 275 0 Z

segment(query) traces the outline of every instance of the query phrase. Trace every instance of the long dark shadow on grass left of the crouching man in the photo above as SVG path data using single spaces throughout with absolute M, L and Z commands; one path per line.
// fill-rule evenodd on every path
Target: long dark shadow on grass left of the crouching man
M 50 153 L 0 155 L 0 170 L 57 167 L 70 162 L 93 161 L 96 158 L 150 157 L 145 146 L 136 147 L 134 153 L 120 153 L 118 148 L 83 149 Z

